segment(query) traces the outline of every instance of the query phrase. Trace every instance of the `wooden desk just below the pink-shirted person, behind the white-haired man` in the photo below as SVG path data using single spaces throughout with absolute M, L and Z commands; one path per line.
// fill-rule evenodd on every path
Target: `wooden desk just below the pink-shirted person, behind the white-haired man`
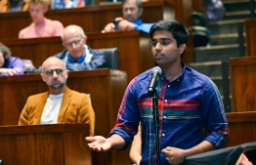
M 154 66 L 149 34 L 138 30 L 89 33 L 87 44 L 93 49 L 118 48 L 118 69 L 127 72 L 128 81 Z M 64 50 L 61 37 L 3 39 L 13 56 L 30 59 L 38 67 L 48 57 Z

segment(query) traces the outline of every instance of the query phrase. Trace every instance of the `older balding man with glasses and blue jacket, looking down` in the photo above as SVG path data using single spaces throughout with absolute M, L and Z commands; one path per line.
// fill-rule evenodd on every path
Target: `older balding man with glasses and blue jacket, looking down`
M 86 45 L 87 36 L 82 27 L 68 25 L 62 35 L 64 51 L 55 55 L 61 59 L 68 70 L 86 70 L 100 68 L 105 62 L 105 55 Z

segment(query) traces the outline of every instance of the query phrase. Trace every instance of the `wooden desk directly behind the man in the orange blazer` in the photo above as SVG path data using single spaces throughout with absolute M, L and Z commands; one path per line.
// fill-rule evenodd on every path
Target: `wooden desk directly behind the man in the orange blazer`
M 92 95 L 96 114 L 95 135 L 107 137 L 114 127 L 117 112 L 127 87 L 126 73 L 119 70 L 95 69 L 70 71 L 67 86 L 75 91 Z M 16 125 L 26 99 L 48 91 L 40 74 L 0 77 L 0 125 Z M 93 164 L 130 164 L 128 150 L 92 153 Z

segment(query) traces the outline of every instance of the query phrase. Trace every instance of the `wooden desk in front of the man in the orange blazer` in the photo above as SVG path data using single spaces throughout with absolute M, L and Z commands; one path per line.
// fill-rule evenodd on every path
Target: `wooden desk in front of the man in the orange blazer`
M 0 127 L 0 159 L 4 165 L 92 164 L 86 124 Z

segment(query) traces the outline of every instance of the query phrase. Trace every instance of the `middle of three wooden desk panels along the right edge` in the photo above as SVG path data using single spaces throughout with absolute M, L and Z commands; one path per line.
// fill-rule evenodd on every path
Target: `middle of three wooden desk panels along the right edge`
M 256 57 L 230 59 L 233 112 L 256 109 Z

